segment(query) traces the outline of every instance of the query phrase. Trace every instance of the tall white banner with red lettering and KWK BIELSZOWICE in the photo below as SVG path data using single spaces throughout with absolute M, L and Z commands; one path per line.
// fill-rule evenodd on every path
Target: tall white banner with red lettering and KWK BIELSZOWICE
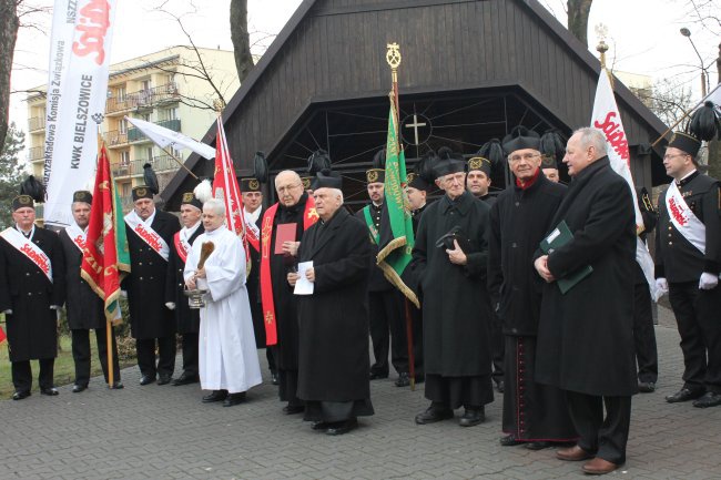
M 54 2 L 44 145 L 49 225 L 72 223 L 72 194 L 94 173 L 116 1 Z

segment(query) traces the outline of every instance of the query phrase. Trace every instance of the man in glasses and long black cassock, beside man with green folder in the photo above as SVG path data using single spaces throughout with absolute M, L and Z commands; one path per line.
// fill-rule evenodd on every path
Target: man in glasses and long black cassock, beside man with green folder
M 531 264 L 566 193 L 563 185 L 541 172 L 538 133 L 524 126 L 504 139 L 516 182 L 490 207 L 488 239 L 488 289 L 502 321 L 506 351 L 506 436 L 500 445 L 524 445 L 530 450 L 577 438 L 563 391 L 534 378 L 542 279 Z

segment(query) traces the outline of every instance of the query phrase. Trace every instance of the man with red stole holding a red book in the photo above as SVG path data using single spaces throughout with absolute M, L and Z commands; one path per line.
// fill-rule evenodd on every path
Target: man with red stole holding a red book
M 263 214 L 261 223 L 261 300 L 265 339 L 273 348 L 278 374 L 278 395 L 287 401 L 286 415 L 305 408 L 297 397 L 298 319 L 293 288 L 286 277 L 296 272 L 303 233 L 318 219 L 315 203 L 297 173 L 285 170 L 275 177 L 278 201 Z

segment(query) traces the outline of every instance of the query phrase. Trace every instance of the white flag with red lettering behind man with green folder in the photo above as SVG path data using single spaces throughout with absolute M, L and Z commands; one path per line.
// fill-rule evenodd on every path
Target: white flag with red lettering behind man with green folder
M 593 113 L 591 114 L 591 126 L 599 129 L 606 135 L 608 142 L 608 157 L 611 162 L 611 168 L 621 175 L 631 190 L 633 196 L 633 208 L 636 212 L 636 231 L 643 232 L 643 217 L 639 208 L 638 197 L 636 195 L 636 184 L 631 175 L 631 155 L 628 150 L 628 137 L 621 122 L 621 113 L 616 104 L 613 88 L 606 69 L 601 69 L 596 88 L 596 99 L 593 100 Z M 636 237 L 636 261 L 643 270 L 643 276 L 649 284 L 651 297 L 658 300 L 660 292 L 656 288 L 653 278 L 653 259 L 649 253 L 646 243 L 640 237 Z

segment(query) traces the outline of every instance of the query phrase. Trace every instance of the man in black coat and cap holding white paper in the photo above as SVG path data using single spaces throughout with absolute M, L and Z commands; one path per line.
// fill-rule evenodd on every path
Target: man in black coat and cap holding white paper
M 373 415 L 368 378 L 366 288 L 373 255 L 362 219 L 343 208 L 341 177 L 318 173 L 313 196 L 321 221 L 305 233 L 299 262 L 313 294 L 298 296 L 298 397 L 314 430 L 343 435 Z M 288 274 L 295 285 L 299 275 Z

